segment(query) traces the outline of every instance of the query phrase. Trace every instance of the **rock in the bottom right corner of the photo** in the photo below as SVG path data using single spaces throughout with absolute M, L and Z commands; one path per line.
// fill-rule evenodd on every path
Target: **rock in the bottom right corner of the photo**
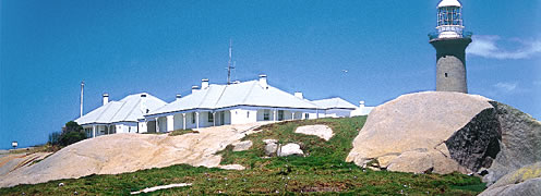
M 480 195 L 541 195 L 541 162 L 526 166 L 504 175 Z

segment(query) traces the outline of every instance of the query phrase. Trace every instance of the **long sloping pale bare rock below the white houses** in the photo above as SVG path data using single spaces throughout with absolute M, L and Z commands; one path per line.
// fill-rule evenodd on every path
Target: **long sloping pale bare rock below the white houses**
M 33 166 L 0 177 L 0 187 L 35 184 L 91 174 L 117 174 L 187 163 L 220 167 L 215 155 L 264 123 L 201 128 L 200 134 L 179 136 L 112 134 L 70 145 Z M 225 169 L 241 169 L 224 166 Z

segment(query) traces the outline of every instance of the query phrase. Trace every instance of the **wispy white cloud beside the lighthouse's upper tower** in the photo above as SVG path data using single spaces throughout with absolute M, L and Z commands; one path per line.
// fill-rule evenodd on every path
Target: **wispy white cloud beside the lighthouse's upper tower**
M 525 41 L 521 39 L 509 39 L 519 45 L 518 49 L 508 50 L 497 46 L 501 40 L 498 36 L 473 36 L 473 41 L 466 49 L 468 54 L 491 59 L 526 59 L 541 53 L 541 39 Z M 506 47 L 507 48 L 507 47 Z

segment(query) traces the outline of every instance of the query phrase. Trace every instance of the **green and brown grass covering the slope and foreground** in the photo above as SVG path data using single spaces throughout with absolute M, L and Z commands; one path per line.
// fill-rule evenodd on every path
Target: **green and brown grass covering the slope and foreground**
M 351 142 L 365 118 L 320 119 L 268 124 L 261 132 L 243 139 L 253 142 L 247 151 L 233 152 L 228 146 L 219 154 L 223 164 L 237 163 L 247 170 L 230 171 L 185 164 L 143 170 L 116 175 L 91 175 L 76 180 L 59 180 L 36 185 L 1 188 L 0 195 L 128 195 L 130 192 L 172 183 L 192 186 L 157 191 L 155 195 L 203 194 L 346 194 L 346 195 L 477 195 L 484 189 L 479 177 L 458 173 L 413 174 L 371 171 L 345 162 Z M 293 133 L 309 124 L 326 124 L 335 136 L 328 142 L 316 136 Z M 298 143 L 305 157 L 262 158 L 262 139 L 274 138 L 280 144 Z M 63 183 L 63 186 L 59 186 Z

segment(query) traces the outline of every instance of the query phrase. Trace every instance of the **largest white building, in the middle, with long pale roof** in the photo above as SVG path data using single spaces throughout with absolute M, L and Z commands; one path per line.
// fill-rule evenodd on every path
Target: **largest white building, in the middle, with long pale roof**
M 267 76 L 259 81 L 230 85 L 209 84 L 202 79 L 201 88 L 166 105 L 140 120 L 141 132 L 170 132 L 225 124 L 259 121 L 316 119 L 324 114 L 302 96 L 293 96 L 267 84 Z

